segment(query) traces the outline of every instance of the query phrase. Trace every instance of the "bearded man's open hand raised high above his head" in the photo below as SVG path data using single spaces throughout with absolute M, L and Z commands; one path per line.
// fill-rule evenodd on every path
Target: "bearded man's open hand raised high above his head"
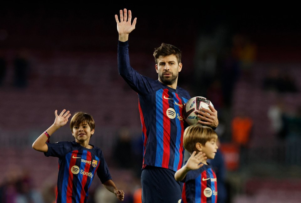
M 132 21 L 132 12 L 129 10 L 129 16 L 126 8 L 124 10 L 120 10 L 120 22 L 118 19 L 118 15 L 115 15 L 115 20 L 117 23 L 117 31 L 119 33 L 119 40 L 120 41 L 127 41 L 129 33 L 132 32 L 135 29 L 137 18 L 134 18 L 133 23 Z

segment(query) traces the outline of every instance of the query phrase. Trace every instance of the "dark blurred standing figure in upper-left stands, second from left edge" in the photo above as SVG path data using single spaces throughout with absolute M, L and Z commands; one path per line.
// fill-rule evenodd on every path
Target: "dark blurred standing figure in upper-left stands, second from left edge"
M 13 60 L 14 66 L 14 86 L 24 88 L 28 85 L 30 64 L 28 60 L 28 52 L 21 50 Z

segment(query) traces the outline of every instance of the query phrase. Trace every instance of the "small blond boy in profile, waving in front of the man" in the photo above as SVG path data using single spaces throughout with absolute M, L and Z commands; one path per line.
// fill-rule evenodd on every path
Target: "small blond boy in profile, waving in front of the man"
M 175 179 L 184 183 L 182 203 L 216 203 L 216 175 L 206 160 L 214 159 L 217 139 L 216 132 L 208 126 L 194 124 L 185 129 L 183 145 L 191 156 L 175 173 Z

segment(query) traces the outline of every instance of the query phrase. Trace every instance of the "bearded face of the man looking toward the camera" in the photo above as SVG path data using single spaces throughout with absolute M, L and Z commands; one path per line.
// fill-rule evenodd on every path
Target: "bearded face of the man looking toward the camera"
M 182 69 L 182 63 L 177 62 L 177 57 L 172 54 L 169 56 L 159 56 L 156 64 L 156 71 L 159 75 L 159 81 L 166 85 L 177 84 L 179 72 Z

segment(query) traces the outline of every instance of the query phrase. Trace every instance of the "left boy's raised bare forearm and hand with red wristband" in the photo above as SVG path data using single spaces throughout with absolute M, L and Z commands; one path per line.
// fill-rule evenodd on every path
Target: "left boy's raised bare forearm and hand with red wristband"
M 66 125 L 68 122 L 68 118 L 71 116 L 69 114 L 70 111 L 64 109 L 60 115 L 57 114 L 57 110 L 55 110 L 55 121 L 54 123 L 45 131 L 43 132 L 32 144 L 32 148 L 37 151 L 47 152 L 48 145 L 46 141 L 49 139 L 50 135 L 53 134 L 57 129 Z

